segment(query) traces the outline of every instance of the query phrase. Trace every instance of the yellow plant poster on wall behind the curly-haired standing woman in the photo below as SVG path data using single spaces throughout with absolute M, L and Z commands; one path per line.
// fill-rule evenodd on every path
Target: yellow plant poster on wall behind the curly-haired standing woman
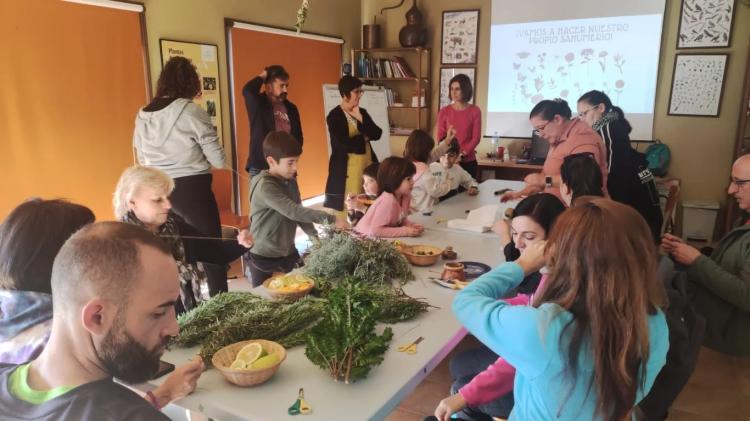
M 221 131 L 221 96 L 219 78 L 218 47 L 215 44 L 199 44 L 196 42 L 159 39 L 161 47 L 161 66 L 172 57 L 180 56 L 189 59 L 198 70 L 200 77 L 201 95 L 193 99 L 199 107 L 206 110 L 211 123 L 220 139 Z

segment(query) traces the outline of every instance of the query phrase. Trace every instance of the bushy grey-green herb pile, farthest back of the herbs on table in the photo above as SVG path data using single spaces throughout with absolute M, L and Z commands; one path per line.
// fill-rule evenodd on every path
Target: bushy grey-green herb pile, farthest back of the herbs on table
M 310 249 L 303 271 L 316 280 L 339 281 L 354 277 L 365 283 L 391 285 L 414 279 L 406 258 L 385 240 L 359 238 L 326 230 Z

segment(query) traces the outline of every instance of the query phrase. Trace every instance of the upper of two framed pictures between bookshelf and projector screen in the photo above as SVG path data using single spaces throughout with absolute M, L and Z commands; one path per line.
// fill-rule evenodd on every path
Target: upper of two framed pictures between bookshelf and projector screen
M 479 10 L 443 12 L 441 64 L 477 64 Z

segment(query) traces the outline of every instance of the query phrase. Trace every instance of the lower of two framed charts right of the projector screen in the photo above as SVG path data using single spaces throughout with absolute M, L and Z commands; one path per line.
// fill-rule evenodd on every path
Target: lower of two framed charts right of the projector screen
M 677 54 L 669 115 L 718 117 L 729 54 Z

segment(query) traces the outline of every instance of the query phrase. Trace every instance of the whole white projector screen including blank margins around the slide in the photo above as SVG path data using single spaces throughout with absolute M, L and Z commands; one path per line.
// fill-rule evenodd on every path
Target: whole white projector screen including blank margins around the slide
M 529 137 L 543 99 L 604 91 L 652 139 L 664 0 L 492 1 L 485 134 Z M 625 3 L 625 4 L 622 4 Z

